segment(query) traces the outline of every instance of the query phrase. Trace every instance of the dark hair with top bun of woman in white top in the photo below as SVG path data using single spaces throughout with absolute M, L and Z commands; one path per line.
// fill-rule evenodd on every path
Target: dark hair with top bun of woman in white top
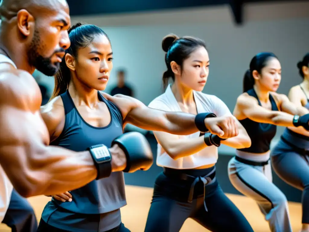
M 185 59 L 195 51 L 198 47 L 206 48 L 205 42 L 195 37 L 185 36 L 179 38 L 174 34 L 169 34 L 163 38 L 162 49 L 165 54 L 165 64 L 167 71 L 163 73 L 163 88 L 165 89 L 168 84 L 168 79 L 175 80 L 175 75 L 171 69 L 171 62 L 175 61 L 180 67 Z

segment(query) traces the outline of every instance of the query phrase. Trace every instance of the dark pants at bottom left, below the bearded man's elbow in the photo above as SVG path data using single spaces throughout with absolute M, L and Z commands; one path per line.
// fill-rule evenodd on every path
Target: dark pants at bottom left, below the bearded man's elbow
M 11 227 L 12 232 L 34 232 L 37 229 L 36 215 L 28 200 L 13 189 L 9 208 L 2 223 Z

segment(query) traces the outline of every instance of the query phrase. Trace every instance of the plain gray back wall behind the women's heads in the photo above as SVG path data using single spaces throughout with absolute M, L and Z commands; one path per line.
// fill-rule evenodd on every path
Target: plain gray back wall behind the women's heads
M 286 94 L 301 81 L 296 63 L 309 51 L 308 9 L 309 1 L 245 5 L 241 26 L 234 24 L 229 6 L 74 17 L 72 24 L 96 24 L 107 32 L 114 53 L 107 91 L 116 83 L 116 69 L 125 67 L 135 96 L 145 104 L 163 91 L 162 38 L 172 32 L 204 39 L 210 54 L 210 76 L 203 92 L 220 97 L 232 111 L 242 92 L 243 74 L 256 53 L 271 51 L 278 56 L 282 66 L 278 92 Z M 52 88 L 53 79 L 45 81 Z

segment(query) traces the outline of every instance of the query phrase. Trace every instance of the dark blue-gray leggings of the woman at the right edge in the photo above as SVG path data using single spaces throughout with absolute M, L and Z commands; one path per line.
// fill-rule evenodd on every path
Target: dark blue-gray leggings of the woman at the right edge
M 282 137 L 272 150 L 272 166 L 283 181 L 303 191 L 302 223 L 309 224 L 309 138 L 302 138 L 288 129 Z

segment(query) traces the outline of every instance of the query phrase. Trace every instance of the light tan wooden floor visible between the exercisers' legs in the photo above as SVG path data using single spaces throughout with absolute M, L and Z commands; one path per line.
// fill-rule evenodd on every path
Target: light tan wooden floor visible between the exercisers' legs
M 150 207 L 152 197 L 152 188 L 126 186 L 126 196 L 128 204 L 121 208 L 122 221 L 125 226 L 132 232 L 143 232 L 146 224 L 146 218 Z M 256 203 L 248 197 L 242 195 L 227 196 L 234 202 L 234 204 L 245 215 L 255 232 L 267 232 L 269 230 L 268 223 L 265 221 L 264 216 L 260 212 Z M 29 198 L 29 202 L 33 206 L 38 220 L 45 204 L 50 200 L 46 196 L 36 196 Z M 290 220 L 292 223 L 293 231 L 298 232 L 301 229 L 301 204 L 289 202 Z M 11 231 L 6 225 L 0 225 L 1 232 Z M 185 221 L 181 232 L 193 231 L 209 231 L 201 227 L 192 219 Z

